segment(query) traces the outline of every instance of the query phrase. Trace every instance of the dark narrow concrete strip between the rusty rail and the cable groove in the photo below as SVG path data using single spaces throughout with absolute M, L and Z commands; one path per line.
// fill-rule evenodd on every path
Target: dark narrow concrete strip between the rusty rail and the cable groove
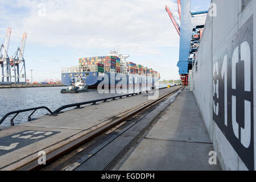
M 172 94 L 172 96 L 168 97 L 167 100 L 162 102 L 159 106 L 157 106 L 154 110 L 151 110 L 150 113 L 147 113 L 143 118 L 139 119 L 135 123 L 131 123 L 129 127 L 122 129 L 118 132 L 117 138 L 112 140 L 108 146 L 105 146 L 100 151 L 98 151 L 95 155 L 92 156 L 89 160 L 81 163 L 79 167 L 76 168 L 77 171 L 88 171 L 88 170 L 105 170 L 105 167 L 113 162 L 113 160 L 118 161 L 117 163 L 122 161 L 122 157 L 127 149 L 127 146 L 136 147 L 135 144 L 132 144 L 140 133 L 143 133 L 144 129 L 151 123 L 154 122 L 155 119 L 158 119 L 159 113 L 162 113 L 164 109 L 170 105 L 170 102 L 175 100 L 177 95 L 180 93 L 176 92 Z M 126 148 L 126 149 L 125 149 Z M 120 157 L 120 158 L 119 158 Z M 79 163 L 81 160 L 77 160 L 76 163 Z M 118 166 L 118 164 L 111 164 L 110 166 Z M 108 167 L 107 167 L 108 168 Z M 110 169 L 110 168 L 108 168 Z M 111 168 L 115 170 L 114 168 Z

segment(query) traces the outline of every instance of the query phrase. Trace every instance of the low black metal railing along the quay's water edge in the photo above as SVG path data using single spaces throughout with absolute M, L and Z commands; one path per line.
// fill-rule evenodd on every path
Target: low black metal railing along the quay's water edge
M 176 86 L 176 85 L 173 85 L 173 86 Z M 172 87 L 172 86 L 171 86 L 171 87 Z M 167 88 L 167 87 L 159 88 L 159 90 L 161 90 L 161 89 L 166 89 L 166 88 Z M 148 92 L 148 90 L 145 91 L 145 92 Z M 130 93 L 130 94 L 125 94 L 125 95 L 121 95 L 121 96 L 107 97 L 107 98 L 101 98 L 101 99 L 98 99 L 98 100 L 92 100 L 92 101 L 86 101 L 86 102 L 79 102 L 79 103 L 75 103 L 75 104 L 68 104 L 68 105 L 64 105 L 64 106 L 59 107 L 59 108 L 56 109 L 55 111 L 51 111 L 51 110 L 50 110 L 48 107 L 46 107 L 46 106 L 33 107 L 33 108 L 30 108 L 30 109 L 23 109 L 23 110 L 16 110 L 16 111 L 12 111 L 12 112 L 7 113 L 6 115 L 4 115 L 3 118 L 0 120 L 0 125 L 2 124 L 3 121 L 5 121 L 5 119 L 6 119 L 7 117 L 9 117 L 9 115 L 12 115 L 12 114 L 15 114 L 15 115 L 14 115 L 14 117 L 11 119 L 10 124 L 11 124 L 11 126 L 14 126 L 14 118 L 15 118 L 19 113 L 24 113 L 24 112 L 33 110 L 33 112 L 28 116 L 28 121 L 31 121 L 31 116 L 32 116 L 32 114 L 34 114 L 35 111 L 38 110 L 38 109 L 46 109 L 47 111 L 49 111 L 50 115 L 56 115 L 56 114 L 59 114 L 62 110 L 67 109 L 67 108 L 70 108 L 70 107 L 76 107 L 76 109 L 81 109 L 81 106 L 82 106 L 82 105 L 86 105 L 86 104 L 97 104 L 97 102 L 101 102 L 101 101 L 107 102 L 108 100 L 115 100 L 116 98 L 123 98 L 123 97 L 135 96 L 135 95 L 142 94 L 142 93 L 143 93 L 143 92 Z

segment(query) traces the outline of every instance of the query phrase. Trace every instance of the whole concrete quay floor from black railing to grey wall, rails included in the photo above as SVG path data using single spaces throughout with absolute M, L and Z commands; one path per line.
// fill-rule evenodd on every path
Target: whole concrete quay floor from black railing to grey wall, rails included
M 186 170 L 197 165 L 195 169 L 219 170 L 208 163 L 212 143 L 188 88 L 159 90 L 155 100 L 148 100 L 149 94 L 2 128 L 0 141 L 5 150 L 0 153 L 0 169 Z M 187 107 L 193 108 L 195 117 L 183 114 Z M 46 165 L 38 164 L 40 152 L 46 154 Z

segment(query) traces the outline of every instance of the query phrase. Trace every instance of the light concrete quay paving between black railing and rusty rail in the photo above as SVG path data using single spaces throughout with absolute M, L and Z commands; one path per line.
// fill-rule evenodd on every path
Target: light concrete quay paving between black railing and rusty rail
M 172 87 L 159 90 L 159 94 L 170 92 L 176 88 L 177 87 Z M 0 143 L 0 150 L 8 151 L 6 154 L 0 155 L 0 169 L 13 170 L 22 166 L 38 158 L 39 151 L 44 150 L 47 154 L 147 102 L 150 102 L 150 100 L 148 100 L 148 94 L 141 94 L 101 103 L 99 105 L 86 106 L 82 109 L 68 110 L 55 117 L 43 117 L 18 126 L 9 128 L 2 127 L 0 138 L 9 135 L 10 137 L 8 137 L 7 142 L 3 144 Z M 28 130 L 56 131 L 58 133 L 40 140 L 33 139 L 33 137 L 29 136 L 30 134 L 24 134 L 26 135 L 25 138 L 20 138 L 18 142 L 15 142 L 17 138 L 13 138 L 13 136 Z M 38 137 L 38 135 L 36 135 L 36 137 Z M 16 148 L 12 148 L 12 146 L 15 146 L 15 143 L 18 143 L 18 145 Z M 27 143 L 27 145 L 24 143 Z M 22 147 L 19 146 L 20 144 L 22 144 Z

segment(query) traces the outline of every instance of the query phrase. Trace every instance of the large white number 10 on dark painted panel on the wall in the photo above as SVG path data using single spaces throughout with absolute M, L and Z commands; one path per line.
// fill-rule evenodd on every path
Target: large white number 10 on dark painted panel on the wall
M 213 119 L 246 167 L 254 169 L 253 16 L 224 47 L 213 59 Z

